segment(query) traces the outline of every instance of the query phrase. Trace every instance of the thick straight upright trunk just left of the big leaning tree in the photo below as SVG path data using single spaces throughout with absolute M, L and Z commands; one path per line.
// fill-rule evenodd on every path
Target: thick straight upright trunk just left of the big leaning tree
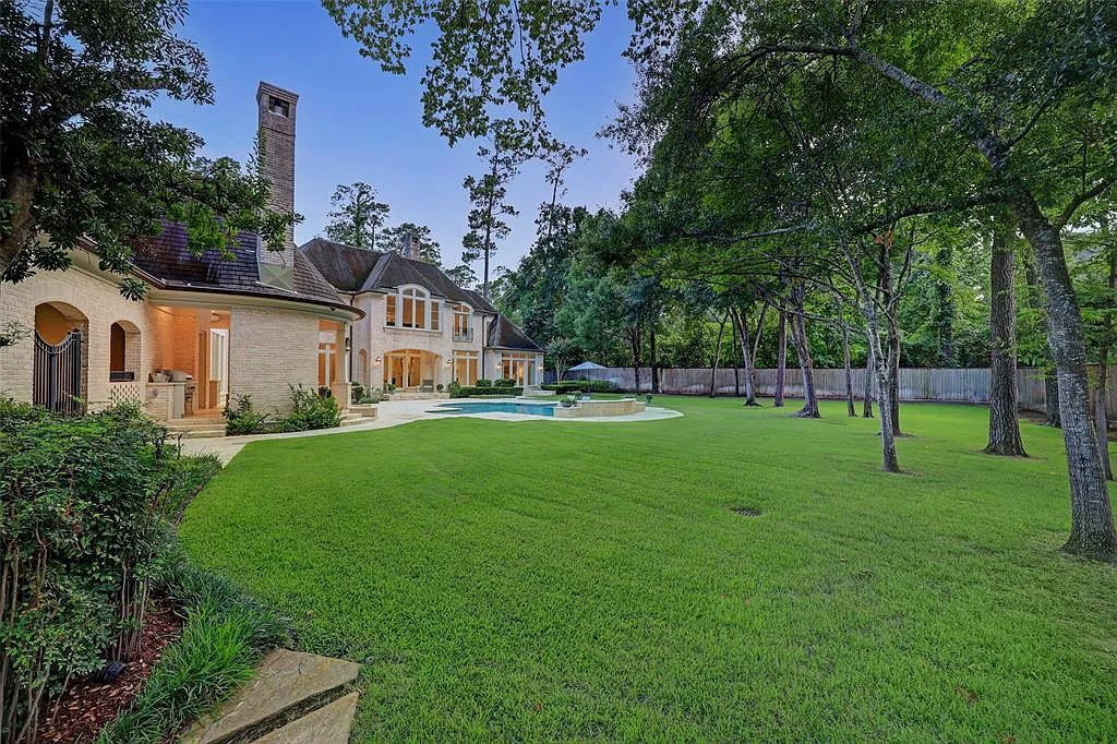
M 1013 235 L 993 228 L 989 333 L 990 400 L 987 455 L 1028 457 L 1016 419 L 1016 296 L 1012 275 Z

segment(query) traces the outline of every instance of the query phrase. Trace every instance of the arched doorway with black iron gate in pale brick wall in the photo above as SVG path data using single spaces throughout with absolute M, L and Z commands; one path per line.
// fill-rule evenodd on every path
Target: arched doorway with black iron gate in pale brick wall
M 76 416 L 89 391 L 89 318 L 63 302 L 35 308 L 32 401 Z

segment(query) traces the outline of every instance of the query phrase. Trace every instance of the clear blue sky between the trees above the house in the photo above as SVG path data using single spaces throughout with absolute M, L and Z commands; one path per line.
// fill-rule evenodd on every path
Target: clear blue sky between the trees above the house
M 570 170 L 567 203 L 615 207 L 636 174 L 631 159 L 594 135 L 632 96 L 634 75 L 620 53 L 628 44 L 623 11 L 607 10 L 586 58 L 567 68 L 548 96 L 552 131 L 590 155 Z M 204 154 L 244 160 L 256 133 L 256 86 L 267 80 L 299 94 L 295 201 L 306 219 L 302 244 L 325 228 L 338 183 L 365 181 L 391 204 L 391 225 L 429 225 L 447 265 L 460 263 L 469 203 L 461 180 L 479 173 L 476 143 L 450 149 L 421 123 L 419 79 L 426 48 L 407 76 L 362 58 L 317 2 L 194 0 L 183 35 L 198 44 L 217 87 L 212 106 L 160 102 L 154 115 L 206 139 Z M 495 265 L 515 266 L 534 237 L 540 202 L 550 198 L 543 169 L 531 163 L 509 185 L 521 213 L 498 246 Z M 477 267 L 479 270 L 479 266 Z

